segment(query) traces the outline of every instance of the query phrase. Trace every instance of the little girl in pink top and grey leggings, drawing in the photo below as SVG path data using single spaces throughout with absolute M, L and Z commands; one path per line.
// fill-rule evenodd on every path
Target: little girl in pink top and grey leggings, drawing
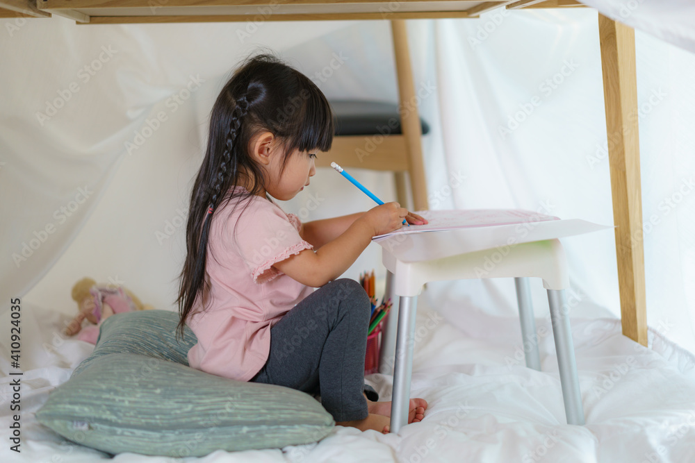
M 338 277 L 372 237 L 427 221 L 398 203 L 306 224 L 286 214 L 268 195 L 309 185 L 333 135 L 326 97 L 299 71 L 259 55 L 234 72 L 190 196 L 177 331 L 197 336 L 190 367 L 320 394 L 338 425 L 389 432 L 391 403 L 364 383 L 370 301 Z M 411 399 L 408 422 L 426 407 Z

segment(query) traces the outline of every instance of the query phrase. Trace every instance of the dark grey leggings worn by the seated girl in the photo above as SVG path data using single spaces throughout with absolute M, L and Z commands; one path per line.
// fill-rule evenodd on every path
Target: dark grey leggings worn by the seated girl
M 379 396 L 364 384 L 371 304 L 357 281 L 338 278 L 306 296 L 270 328 L 270 355 L 251 379 L 320 394 L 335 421 L 367 417 Z

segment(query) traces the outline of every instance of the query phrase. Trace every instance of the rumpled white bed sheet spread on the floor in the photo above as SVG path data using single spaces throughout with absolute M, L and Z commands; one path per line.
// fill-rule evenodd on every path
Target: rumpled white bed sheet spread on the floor
M 565 423 L 550 323 L 537 319 L 542 372 L 520 357 L 514 317 L 495 317 L 459 301 L 429 307 L 419 298 L 413 396 L 429 407 L 421 423 L 398 435 L 336 427 L 318 444 L 229 453 L 183 461 L 219 462 L 662 462 L 695 461 L 695 358 L 650 329 L 650 348 L 621 335 L 610 317 L 573 318 L 586 426 Z M 450 323 L 443 314 L 467 310 Z M 579 312 L 577 312 L 579 313 Z M 2 318 L 7 317 L 5 314 Z M 96 462 L 106 453 L 73 444 L 40 425 L 34 413 L 65 382 L 93 346 L 63 339 L 67 317 L 25 305 L 22 323 L 35 339 L 24 344 L 22 453 L 9 451 L 8 353 L 1 346 L 2 462 Z M 3 326 L 8 326 L 2 321 Z M 547 334 L 544 334 L 547 333 Z M 519 360 L 521 359 L 521 360 Z M 368 380 L 390 400 L 391 376 Z M 115 462 L 173 462 L 133 453 Z

